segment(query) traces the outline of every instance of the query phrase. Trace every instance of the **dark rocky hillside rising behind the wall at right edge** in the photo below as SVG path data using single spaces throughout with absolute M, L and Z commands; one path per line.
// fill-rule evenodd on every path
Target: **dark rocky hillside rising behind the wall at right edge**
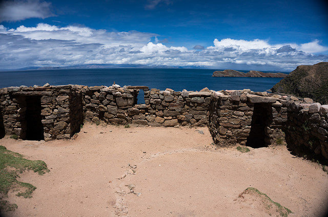
M 328 62 L 297 66 L 271 90 L 273 93 L 293 94 L 328 104 Z

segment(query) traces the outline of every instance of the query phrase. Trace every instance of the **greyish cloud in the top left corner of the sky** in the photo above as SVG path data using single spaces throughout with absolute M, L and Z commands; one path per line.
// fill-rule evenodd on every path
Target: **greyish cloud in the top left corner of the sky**
M 53 16 L 50 5 L 39 0 L 4 1 L 0 3 L 0 22 Z

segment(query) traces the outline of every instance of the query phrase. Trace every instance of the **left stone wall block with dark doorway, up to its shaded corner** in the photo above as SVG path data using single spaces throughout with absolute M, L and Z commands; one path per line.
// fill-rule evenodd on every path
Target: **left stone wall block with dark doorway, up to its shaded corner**
M 81 115 L 78 119 L 74 118 L 82 110 L 79 111 L 79 107 L 75 106 L 70 109 L 70 104 L 76 105 L 75 101 L 78 99 L 77 88 L 73 87 L 66 85 L 2 88 L 0 106 L 6 134 L 15 134 L 23 139 L 35 136 L 45 140 L 70 138 L 78 132 L 76 126 L 83 122 Z M 35 109 L 38 106 L 39 111 Z M 73 115 L 72 118 L 70 114 Z M 29 121 L 31 118 L 34 118 L 34 125 Z M 43 135 L 36 135 L 38 131 L 43 131 Z

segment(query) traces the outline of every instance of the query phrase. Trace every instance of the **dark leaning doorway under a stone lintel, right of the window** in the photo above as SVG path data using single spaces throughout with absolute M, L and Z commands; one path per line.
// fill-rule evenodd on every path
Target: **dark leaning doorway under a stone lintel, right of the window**
M 251 132 L 247 137 L 246 146 L 252 148 L 268 147 L 266 142 L 265 127 L 270 123 L 271 104 L 255 103 L 252 115 Z

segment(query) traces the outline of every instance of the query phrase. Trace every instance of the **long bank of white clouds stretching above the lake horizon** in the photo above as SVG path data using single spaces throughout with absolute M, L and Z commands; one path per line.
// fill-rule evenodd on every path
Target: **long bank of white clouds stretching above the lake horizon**
M 304 44 L 271 44 L 268 40 L 214 39 L 213 45 L 167 46 L 157 34 L 108 32 L 88 27 L 8 29 L 0 25 L 0 69 L 79 64 L 202 66 L 258 70 L 291 70 L 297 65 L 328 61 L 318 40 Z

